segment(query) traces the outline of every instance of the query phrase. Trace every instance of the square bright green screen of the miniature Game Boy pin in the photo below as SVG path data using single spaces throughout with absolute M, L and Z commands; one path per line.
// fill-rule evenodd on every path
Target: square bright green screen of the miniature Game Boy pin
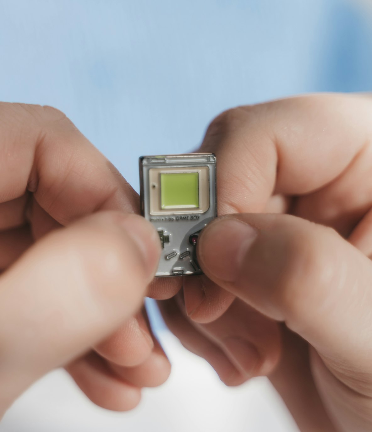
M 199 173 L 179 172 L 160 174 L 162 209 L 199 207 Z

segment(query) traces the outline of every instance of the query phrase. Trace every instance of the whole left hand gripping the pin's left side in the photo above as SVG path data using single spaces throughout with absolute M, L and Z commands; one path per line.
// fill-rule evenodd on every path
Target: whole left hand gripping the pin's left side
M 157 233 L 60 111 L 1 103 L 0 144 L 0 417 L 62 365 L 99 405 L 130 409 L 170 369 L 138 312 Z

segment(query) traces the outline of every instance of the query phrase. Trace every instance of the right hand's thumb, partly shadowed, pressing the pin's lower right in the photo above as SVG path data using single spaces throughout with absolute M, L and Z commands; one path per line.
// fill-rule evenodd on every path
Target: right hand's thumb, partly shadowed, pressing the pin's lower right
M 226 216 L 203 230 L 198 260 L 215 283 L 285 321 L 334 375 L 353 386 L 360 372 L 372 389 L 372 263 L 334 230 L 289 215 Z

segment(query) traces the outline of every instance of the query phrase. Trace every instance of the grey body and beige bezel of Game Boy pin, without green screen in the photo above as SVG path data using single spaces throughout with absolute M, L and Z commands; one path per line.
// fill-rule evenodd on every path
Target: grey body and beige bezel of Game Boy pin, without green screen
M 212 153 L 191 153 L 186 155 L 142 156 L 139 159 L 139 169 L 141 213 L 157 229 L 162 244 L 162 255 L 156 276 L 201 274 L 202 270 L 196 259 L 197 238 L 199 232 L 208 222 L 217 216 L 215 155 Z M 199 199 L 201 200 L 202 194 L 208 193 L 207 197 L 203 197 L 204 202 L 206 199 L 209 201 L 208 209 L 205 210 L 206 206 L 202 208 L 199 204 L 200 207 L 195 209 L 175 209 L 173 211 L 164 209 L 161 210 L 161 214 L 153 210 L 154 200 L 160 200 L 160 192 L 154 198 L 152 189 L 155 190 L 160 187 L 160 174 L 171 170 L 180 173 L 197 171 L 199 172 L 199 179 L 202 178 L 200 172 L 203 173 L 203 183 L 199 183 Z M 158 181 L 157 175 L 159 175 Z M 160 206 L 160 203 L 156 202 L 155 204 Z

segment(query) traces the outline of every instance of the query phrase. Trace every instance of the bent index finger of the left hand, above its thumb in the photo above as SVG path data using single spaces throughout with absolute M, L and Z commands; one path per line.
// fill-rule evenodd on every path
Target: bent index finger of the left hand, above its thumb
M 96 210 L 138 213 L 137 194 L 55 108 L 0 103 L 0 203 L 33 192 L 66 225 Z

